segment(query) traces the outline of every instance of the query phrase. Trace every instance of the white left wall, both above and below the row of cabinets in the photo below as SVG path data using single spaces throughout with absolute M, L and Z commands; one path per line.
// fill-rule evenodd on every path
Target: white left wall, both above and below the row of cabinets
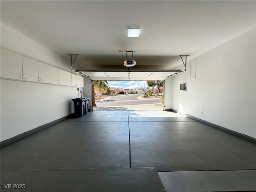
M 1 47 L 70 71 L 70 60 L 1 23 Z M 1 79 L 1 141 L 74 112 L 77 88 Z

